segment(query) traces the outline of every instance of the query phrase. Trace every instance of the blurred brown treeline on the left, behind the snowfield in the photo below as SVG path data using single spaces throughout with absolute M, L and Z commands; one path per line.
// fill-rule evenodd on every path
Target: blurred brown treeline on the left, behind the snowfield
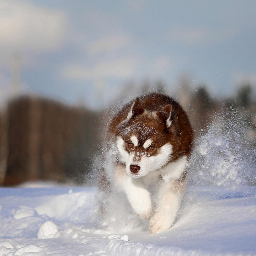
M 98 113 L 39 97 L 12 99 L 0 118 L 0 185 L 84 182 L 98 133 Z

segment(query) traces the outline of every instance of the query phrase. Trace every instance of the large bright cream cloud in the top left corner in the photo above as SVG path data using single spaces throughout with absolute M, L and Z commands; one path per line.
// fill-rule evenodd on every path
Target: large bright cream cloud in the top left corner
M 55 50 L 62 44 L 66 15 L 62 11 L 26 2 L 0 2 L 0 47 L 2 50 Z

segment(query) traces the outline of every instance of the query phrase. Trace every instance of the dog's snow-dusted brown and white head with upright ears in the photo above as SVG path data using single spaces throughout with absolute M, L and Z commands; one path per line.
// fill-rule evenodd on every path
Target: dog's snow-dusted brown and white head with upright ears
M 119 160 L 127 174 L 139 178 L 158 170 L 172 155 L 171 105 L 149 113 L 137 98 L 127 119 L 119 124 L 116 140 Z

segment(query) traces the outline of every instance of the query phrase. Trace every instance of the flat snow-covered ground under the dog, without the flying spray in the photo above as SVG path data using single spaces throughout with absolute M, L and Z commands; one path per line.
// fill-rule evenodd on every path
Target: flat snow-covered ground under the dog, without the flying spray
M 0 255 L 256 255 L 256 187 L 190 186 L 175 225 L 155 235 L 119 205 L 104 228 L 96 197 L 90 187 L 1 188 Z

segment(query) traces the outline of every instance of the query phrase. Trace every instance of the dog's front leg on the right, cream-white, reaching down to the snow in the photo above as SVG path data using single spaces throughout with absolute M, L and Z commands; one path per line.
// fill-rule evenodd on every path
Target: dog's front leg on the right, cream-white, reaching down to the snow
M 150 219 L 151 233 L 169 229 L 174 223 L 182 198 L 186 190 L 186 181 L 164 182 L 159 189 L 157 212 Z

